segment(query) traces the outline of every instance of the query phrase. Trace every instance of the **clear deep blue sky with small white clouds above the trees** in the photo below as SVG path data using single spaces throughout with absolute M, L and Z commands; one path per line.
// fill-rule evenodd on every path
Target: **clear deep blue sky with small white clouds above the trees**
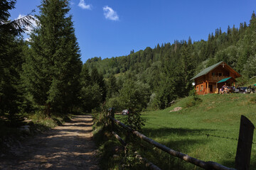
M 41 0 L 18 0 L 11 18 L 26 15 Z M 80 4 L 80 5 L 79 5 Z M 207 40 L 216 28 L 249 23 L 255 0 L 70 0 L 82 62 L 129 55 L 157 43 Z

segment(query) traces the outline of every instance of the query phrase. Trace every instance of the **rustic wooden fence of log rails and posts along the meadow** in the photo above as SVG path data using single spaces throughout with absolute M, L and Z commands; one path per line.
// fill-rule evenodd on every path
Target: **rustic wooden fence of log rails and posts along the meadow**
M 204 162 L 202 160 L 193 158 L 188 156 L 187 154 L 183 154 L 181 152 L 177 152 L 174 149 L 170 149 L 169 147 L 166 147 L 165 145 L 161 145 L 158 142 L 150 139 L 149 137 L 146 137 L 142 133 L 132 130 L 132 128 L 129 128 L 129 126 L 124 125 L 124 123 L 121 123 L 119 120 L 116 120 L 114 118 L 114 113 L 111 113 L 111 115 L 108 115 L 108 118 L 110 118 L 112 122 L 112 130 L 114 130 L 114 124 L 117 124 L 121 126 L 122 128 L 128 130 L 133 135 L 139 137 L 140 139 L 148 142 L 150 145 L 154 145 L 155 147 L 158 147 L 159 149 L 163 150 L 164 152 L 174 156 L 178 157 L 179 159 L 182 159 L 186 162 L 189 162 L 191 164 L 194 164 L 196 166 L 200 166 L 203 169 L 215 169 L 215 170 L 249 170 L 250 169 L 250 155 L 251 155 L 251 149 L 252 149 L 252 137 L 253 137 L 253 131 L 255 129 L 255 126 L 248 120 L 244 115 L 241 115 L 240 120 L 240 132 L 239 132 L 239 138 L 238 138 L 238 147 L 237 152 L 235 156 L 235 169 L 228 168 L 226 166 L 223 166 L 221 164 L 218 164 L 216 162 Z M 122 140 L 117 133 L 112 132 L 114 137 L 119 140 L 119 142 L 125 147 L 127 144 Z M 151 162 L 148 162 L 146 159 L 142 158 L 139 154 L 137 154 L 137 157 L 142 160 L 146 164 L 149 169 L 159 170 L 159 167 L 154 165 Z

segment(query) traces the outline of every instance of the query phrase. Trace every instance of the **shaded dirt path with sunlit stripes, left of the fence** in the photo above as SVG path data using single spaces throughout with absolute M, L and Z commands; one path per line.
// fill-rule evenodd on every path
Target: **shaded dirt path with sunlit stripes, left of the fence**
M 0 158 L 0 169 L 99 169 L 92 142 L 92 116 L 76 115 L 22 143 L 16 157 Z

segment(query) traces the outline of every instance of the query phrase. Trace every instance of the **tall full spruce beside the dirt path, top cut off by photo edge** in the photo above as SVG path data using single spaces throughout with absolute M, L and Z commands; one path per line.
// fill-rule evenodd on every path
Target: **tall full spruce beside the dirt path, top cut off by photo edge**
M 43 0 L 39 27 L 31 34 L 31 55 L 24 64 L 24 79 L 33 102 L 50 113 L 68 113 L 78 103 L 82 67 L 69 3 Z

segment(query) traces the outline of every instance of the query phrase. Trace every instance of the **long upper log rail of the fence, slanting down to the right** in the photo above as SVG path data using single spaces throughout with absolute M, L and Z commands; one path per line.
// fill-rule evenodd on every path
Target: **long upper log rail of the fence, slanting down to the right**
M 110 118 L 110 120 L 112 120 L 112 123 L 115 123 L 115 124 L 121 126 L 122 128 L 125 128 L 125 129 L 129 130 L 134 135 L 136 135 L 140 139 L 148 142 L 149 144 L 154 145 L 155 147 L 163 150 L 164 152 L 166 152 L 168 154 L 171 154 L 174 157 L 178 157 L 178 158 L 180 158 L 180 159 L 182 159 L 186 162 L 190 162 L 191 164 L 194 164 L 196 166 L 200 166 L 203 169 L 236 170 L 236 169 L 233 169 L 233 168 L 228 168 L 228 167 L 223 166 L 221 164 L 218 164 L 216 162 L 204 162 L 202 160 L 190 157 L 187 154 L 177 152 L 174 149 L 170 149 L 169 147 L 166 147 L 165 145 L 161 145 L 159 142 L 156 142 L 156 141 L 150 139 L 149 137 L 146 137 L 145 135 L 143 135 L 142 133 L 140 133 L 136 130 L 132 130 L 132 128 L 129 128 L 127 125 L 124 125 L 124 123 L 120 122 L 119 120 L 116 120 L 115 118 L 112 118 L 112 116 L 110 116 L 110 115 L 109 115 L 109 118 Z

